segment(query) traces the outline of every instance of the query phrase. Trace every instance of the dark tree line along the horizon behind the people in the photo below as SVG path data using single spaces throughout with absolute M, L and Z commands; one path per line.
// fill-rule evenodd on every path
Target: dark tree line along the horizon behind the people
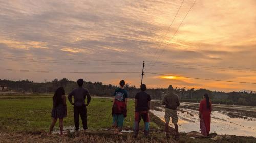
M 62 86 L 65 88 L 66 94 L 69 94 L 74 88 L 77 87 L 75 81 L 63 79 L 54 79 L 52 81 L 45 80 L 44 83 L 36 83 L 29 80 L 11 81 L 11 80 L 1 80 L 0 86 L 7 87 L 8 91 L 18 91 L 18 92 L 39 92 L 39 93 L 53 93 L 58 87 Z M 104 85 L 102 82 L 84 82 L 83 85 L 89 90 L 92 95 L 97 96 L 112 96 L 117 86 L 109 84 Z M 1 88 L 2 90 L 3 88 Z M 125 89 L 129 92 L 129 97 L 133 98 L 135 94 L 139 91 L 135 86 L 126 84 Z M 165 88 L 150 88 L 147 89 L 147 93 L 151 95 L 152 99 L 162 100 L 163 96 L 167 93 Z M 179 95 L 180 100 L 183 102 L 200 102 L 205 93 L 208 93 L 211 101 L 215 104 L 231 104 L 231 105 L 247 105 L 256 106 L 256 94 L 248 92 L 220 92 L 220 91 L 210 91 L 207 89 L 197 89 L 194 88 L 186 89 L 175 88 L 175 93 Z

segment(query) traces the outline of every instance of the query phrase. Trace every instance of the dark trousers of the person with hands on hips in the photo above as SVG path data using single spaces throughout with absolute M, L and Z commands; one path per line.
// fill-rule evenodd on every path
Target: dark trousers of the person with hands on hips
M 87 129 L 87 111 L 86 106 L 75 106 L 74 105 L 74 121 L 75 121 L 75 130 L 79 130 L 79 115 L 82 119 L 82 127 L 84 130 Z

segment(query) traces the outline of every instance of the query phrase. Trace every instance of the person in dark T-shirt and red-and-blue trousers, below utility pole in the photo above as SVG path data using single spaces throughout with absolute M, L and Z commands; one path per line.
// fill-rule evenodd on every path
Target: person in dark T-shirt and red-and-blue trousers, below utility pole
M 142 84 L 140 86 L 141 91 L 135 96 L 135 116 L 134 116 L 134 137 L 139 134 L 139 123 L 141 118 L 144 121 L 144 135 L 149 135 L 150 130 L 150 95 L 145 92 L 146 85 Z

